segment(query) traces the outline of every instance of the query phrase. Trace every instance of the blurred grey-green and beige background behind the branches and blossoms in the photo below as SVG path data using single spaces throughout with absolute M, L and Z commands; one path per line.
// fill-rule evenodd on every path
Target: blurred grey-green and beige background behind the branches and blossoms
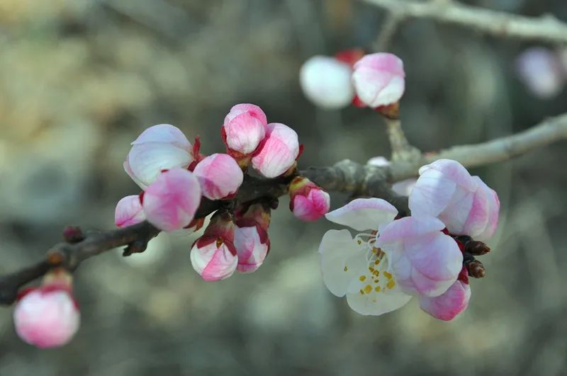
M 564 0 L 467 3 L 567 21 Z M 298 85 L 312 55 L 371 49 L 384 15 L 355 0 L 0 0 L 0 272 L 38 260 L 66 225 L 111 229 L 116 202 L 138 192 L 122 169 L 129 143 L 150 125 L 200 135 L 210 154 L 230 107 L 249 102 L 298 132 L 300 167 L 388 156 L 376 113 L 318 110 Z M 481 142 L 565 112 L 562 87 L 539 98 L 516 74 L 534 46 L 400 25 L 390 50 L 405 62 L 410 142 Z M 82 264 L 82 326 L 64 348 L 21 342 L 1 309 L 0 375 L 564 375 L 566 147 L 471 171 L 499 193 L 501 224 L 454 321 L 415 300 L 352 312 L 320 278 L 332 226 L 294 220 L 282 198 L 252 275 L 205 283 L 189 262 L 194 236 L 160 234 L 146 253 Z M 345 200 L 332 195 L 333 207 Z

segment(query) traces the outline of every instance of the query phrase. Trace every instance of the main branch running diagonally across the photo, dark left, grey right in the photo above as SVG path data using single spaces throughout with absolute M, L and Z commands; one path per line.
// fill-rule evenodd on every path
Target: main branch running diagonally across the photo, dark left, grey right
M 383 198 L 397 207 L 400 214 L 407 215 L 409 213 L 408 198 L 395 194 L 391 183 L 417 175 L 417 169 L 423 164 L 435 159 L 448 158 L 460 161 L 464 166 L 482 166 L 505 161 L 560 139 L 567 139 L 567 113 L 549 118 L 517 135 L 501 137 L 481 144 L 451 147 L 437 154 L 419 155 L 413 161 L 393 161 L 389 166 L 362 166 L 357 162 L 344 160 L 333 166 L 310 167 L 298 171 L 298 174 L 306 176 L 326 190 Z M 239 203 L 286 195 L 291 178 L 293 176 L 276 179 L 246 176 L 235 200 Z M 231 203 L 203 198 L 196 217 L 205 217 L 225 205 L 231 205 Z M 74 239 L 67 238 L 69 241 L 56 244 L 47 251 L 42 261 L 0 277 L 0 304 L 13 303 L 18 290 L 23 285 L 40 278 L 52 268 L 64 267 L 75 270 L 87 258 L 118 246 L 126 246 L 125 256 L 142 252 L 147 242 L 157 234 L 159 230 L 148 222 L 124 229 L 87 232 L 82 240 L 80 240 L 81 237 L 77 239 L 77 234 L 74 234 Z M 71 242 L 76 240 L 78 241 Z

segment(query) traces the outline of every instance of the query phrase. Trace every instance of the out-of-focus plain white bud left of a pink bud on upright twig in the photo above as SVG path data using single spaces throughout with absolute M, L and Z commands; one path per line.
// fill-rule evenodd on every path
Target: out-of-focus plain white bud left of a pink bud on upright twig
M 315 106 L 345 108 L 354 98 L 351 74 L 351 67 L 344 62 L 333 57 L 313 56 L 301 66 L 299 84 L 305 97 Z

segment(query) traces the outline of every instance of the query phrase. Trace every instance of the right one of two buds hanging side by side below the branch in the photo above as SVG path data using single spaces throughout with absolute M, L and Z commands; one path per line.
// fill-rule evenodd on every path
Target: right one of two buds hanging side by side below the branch
M 237 270 L 252 273 L 257 270 L 269 252 L 268 227 L 270 208 L 265 203 L 254 203 L 235 210 L 235 248 L 238 254 Z

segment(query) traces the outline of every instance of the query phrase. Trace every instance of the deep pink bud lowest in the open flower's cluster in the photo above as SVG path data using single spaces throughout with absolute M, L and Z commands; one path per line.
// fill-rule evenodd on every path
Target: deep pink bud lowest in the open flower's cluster
M 470 298 L 471 287 L 457 280 L 438 297 L 420 297 L 420 307 L 436 319 L 449 321 L 466 309 Z

